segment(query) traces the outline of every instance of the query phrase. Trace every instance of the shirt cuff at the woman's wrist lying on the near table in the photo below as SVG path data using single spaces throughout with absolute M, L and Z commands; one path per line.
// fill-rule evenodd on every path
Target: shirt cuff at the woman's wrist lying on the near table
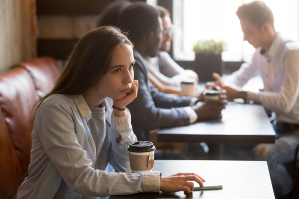
M 143 192 L 159 192 L 160 191 L 160 172 L 144 172 L 143 178 Z

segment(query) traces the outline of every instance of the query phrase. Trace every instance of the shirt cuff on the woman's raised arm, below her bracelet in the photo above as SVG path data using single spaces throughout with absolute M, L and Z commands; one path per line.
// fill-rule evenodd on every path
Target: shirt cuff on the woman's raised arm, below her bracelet
M 131 114 L 129 110 L 126 108 L 125 116 L 123 117 L 116 117 L 114 116 L 113 112 L 111 114 L 111 126 L 114 130 L 118 132 L 127 131 L 131 127 Z

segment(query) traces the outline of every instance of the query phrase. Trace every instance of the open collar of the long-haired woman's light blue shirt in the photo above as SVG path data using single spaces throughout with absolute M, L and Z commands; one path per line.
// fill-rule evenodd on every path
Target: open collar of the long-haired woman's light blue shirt
M 82 95 L 72 95 L 74 102 L 80 112 L 80 114 L 84 117 L 87 118 L 87 120 L 89 120 L 91 118 L 91 111 L 87 105 L 87 103 L 85 102 L 85 99 Z M 108 102 L 106 101 L 106 99 L 104 99 L 103 101 L 103 105 L 105 106 L 106 110 L 111 111 L 110 106 L 108 104 Z

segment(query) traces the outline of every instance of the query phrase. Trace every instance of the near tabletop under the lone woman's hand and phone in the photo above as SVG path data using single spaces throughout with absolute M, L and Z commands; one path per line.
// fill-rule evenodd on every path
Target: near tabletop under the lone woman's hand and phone
M 137 193 L 110 196 L 117 198 L 201 198 L 201 199 L 274 199 L 266 161 L 219 161 L 219 160 L 155 160 L 154 171 L 163 175 L 178 172 L 195 172 L 206 180 L 219 180 L 223 189 L 183 191 L 172 193 Z

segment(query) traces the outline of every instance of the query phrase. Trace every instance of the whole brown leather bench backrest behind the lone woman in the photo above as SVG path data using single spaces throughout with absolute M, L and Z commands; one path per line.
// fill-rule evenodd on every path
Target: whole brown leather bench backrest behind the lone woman
M 32 108 L 53 87 L 59 71 L 55 59 L 40 57 L 0 74 L 0 198 L 16 198 L 28 175 Z

